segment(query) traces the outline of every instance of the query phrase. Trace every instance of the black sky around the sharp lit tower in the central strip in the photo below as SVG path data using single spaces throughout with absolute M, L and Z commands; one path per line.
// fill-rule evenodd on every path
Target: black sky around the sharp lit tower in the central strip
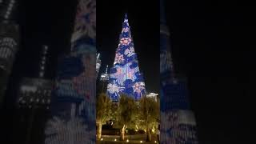
M 102 54 L 101 70 L 104 72 L 106 65 L 114 64 L 122 22 L 127 13 L 146 90 L 159 93 L 159 9 L 156 6 L 158 2 L 97 1 L 97 48 Z

